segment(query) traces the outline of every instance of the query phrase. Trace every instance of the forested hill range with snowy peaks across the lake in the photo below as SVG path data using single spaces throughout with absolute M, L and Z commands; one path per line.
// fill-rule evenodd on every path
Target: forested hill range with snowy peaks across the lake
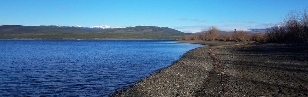
M 99 26 L 105 27 L 105 26 Z M 180 39 L 190 35 L 168 27 L 0 26 L 0 39 Z

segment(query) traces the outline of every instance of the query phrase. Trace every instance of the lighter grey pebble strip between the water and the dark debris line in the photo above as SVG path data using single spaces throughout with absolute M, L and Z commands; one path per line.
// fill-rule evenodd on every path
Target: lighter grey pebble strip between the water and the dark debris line
M 111 96 L 194 96 L 213 69 L 213 59 L 208 54 L 210 48 L 204 46 L 188 51 L 171 66 Z

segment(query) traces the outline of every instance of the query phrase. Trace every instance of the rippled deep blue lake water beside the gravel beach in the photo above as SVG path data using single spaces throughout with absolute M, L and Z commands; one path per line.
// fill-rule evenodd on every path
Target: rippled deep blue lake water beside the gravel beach
M 0 40 L 0 96 L 108 96 L 202 45 L 164 40 Z

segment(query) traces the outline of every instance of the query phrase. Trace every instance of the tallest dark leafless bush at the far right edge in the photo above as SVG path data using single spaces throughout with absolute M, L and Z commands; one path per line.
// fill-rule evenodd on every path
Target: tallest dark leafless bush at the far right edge
M 286 14 L 282 26 L 273 26 L 265 34 L 266 41 L 308 43 L 308 14 L 296 10 Z

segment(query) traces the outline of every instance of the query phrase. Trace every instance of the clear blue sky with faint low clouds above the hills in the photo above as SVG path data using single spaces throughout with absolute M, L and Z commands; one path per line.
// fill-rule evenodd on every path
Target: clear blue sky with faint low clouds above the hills
M 0 0 L 0 25 L 245 30 L 270 27 L 305 6 L 308 0 Z

